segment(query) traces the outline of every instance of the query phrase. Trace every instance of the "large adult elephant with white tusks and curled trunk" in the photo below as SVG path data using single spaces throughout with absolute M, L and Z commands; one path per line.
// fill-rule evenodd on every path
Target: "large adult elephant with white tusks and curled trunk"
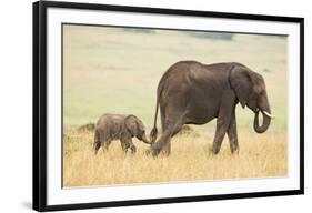
M 263 78 L 248 67 L 235 63 L 202 64 L 180 61 L 162 75 L 157 91 L 152 145 L 148 153 L 170 154 L 170 139 L 183 124 L 205 124 L 217 118 L 212 151 L 218 154 L 225 133 L 231 152 L 239 150 L 235 106 L 248 105 L 254 112 L 253 129 L 263 133 L 270 125 L 271 109 Z M 162 135 L 157 139 L 157 116 L 160 106 Z M 263 123 L 259 123 L 259 112 Z

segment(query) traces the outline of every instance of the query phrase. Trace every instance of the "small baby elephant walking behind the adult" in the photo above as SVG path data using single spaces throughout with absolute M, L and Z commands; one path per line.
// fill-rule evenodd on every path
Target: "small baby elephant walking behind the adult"
M 95 124 L 93 144 L 95 154 L 101 146 L 107 151 L 112 140 L 120 140 L 121 148 L 124 152 L 130 149 L 131 153 L 135 153 L 137 149 L 132 143 L 133 136 L 150 144 L 147 140 L 144 125 L 137 116 L 132 114 L 103 114 Z

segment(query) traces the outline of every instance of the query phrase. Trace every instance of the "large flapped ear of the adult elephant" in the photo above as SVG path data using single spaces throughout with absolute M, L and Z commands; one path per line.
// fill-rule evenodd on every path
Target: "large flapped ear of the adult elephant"
M 248 68 L 243 65 L 235 65 L 230 71 L 230 85 L 234 90 L 242 108 L 245 106 L 248 98 L 252 89 L 252 81 L 249 75 Z

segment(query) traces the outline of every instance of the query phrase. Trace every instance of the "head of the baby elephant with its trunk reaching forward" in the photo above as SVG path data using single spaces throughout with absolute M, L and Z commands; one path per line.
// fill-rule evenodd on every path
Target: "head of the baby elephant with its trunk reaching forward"
M 145 128 L 140 119 L 132 114 L 128 115 L 124 119 L 124 126 L 132 136 L 135 136 L 140 141 L 150 144 L 145 135 Z

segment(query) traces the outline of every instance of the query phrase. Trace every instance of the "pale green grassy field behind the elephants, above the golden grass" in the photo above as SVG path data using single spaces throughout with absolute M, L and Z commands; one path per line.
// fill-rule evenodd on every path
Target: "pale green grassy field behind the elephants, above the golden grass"
M 63 36 L 64 124 L 95 122 L 110 112 L 133 113 L 151 126 L 161 75 L 177 61 L 197 60 L 236 61 L 261 73 L 276 115 L 270 130 L 286 130 L 286 38 L 234 34 L 215 40 L 179 31 L 77 26 L 66 26 Z M 240 129 L 252 130 L 253 113 L 240 105 L 236 111 Z

